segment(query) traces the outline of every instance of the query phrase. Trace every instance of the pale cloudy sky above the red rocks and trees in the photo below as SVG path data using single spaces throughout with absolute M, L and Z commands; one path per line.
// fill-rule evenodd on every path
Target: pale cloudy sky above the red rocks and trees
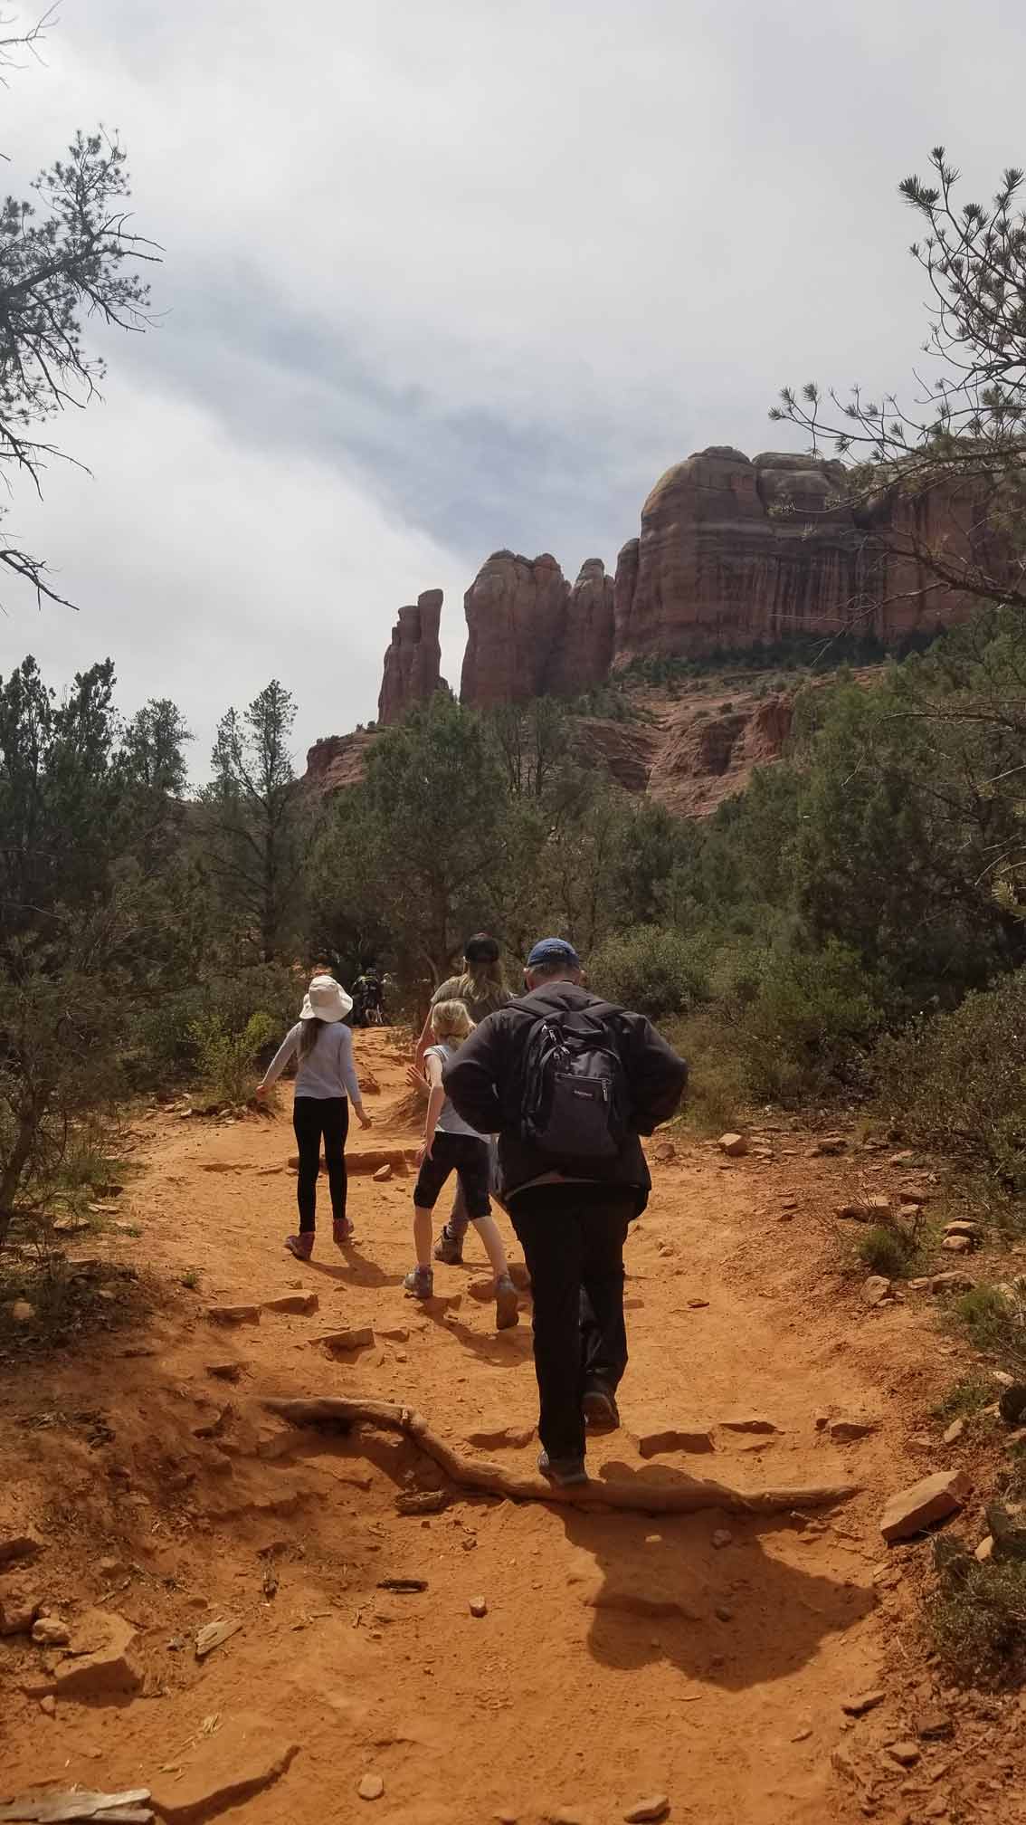
M 1022 0 L 62 0 L 4 181 L 120 130 L 161 321 L 13 500 L 79 613 L 4 582 L 0 672 L 111 653 L 195 777 L 272 675 L 298 756 L 371 717 L 420 589 L 456 681 L 497 546 L 612 566 L 692 449 L 800 447 L 783 381 L 904 387 L 896 182 L 1026 164 L 1024 55 Z

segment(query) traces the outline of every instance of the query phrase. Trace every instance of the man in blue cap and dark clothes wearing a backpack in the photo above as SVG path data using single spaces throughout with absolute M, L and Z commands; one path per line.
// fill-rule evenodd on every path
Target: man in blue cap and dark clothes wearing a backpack
M 652 1190 L 639 1135 L 674 1115 L 688 1068 L 643 1015 L 581 986 L 564 938 L 535 945 L 524 980 L 442 1082 L 471 1128 L 498 1132 L 498 1195 L 535 1299 L 539 1469 L 564 1487 L 588 1480 L 586 1425 L 619 1425 L 623 1246 Z

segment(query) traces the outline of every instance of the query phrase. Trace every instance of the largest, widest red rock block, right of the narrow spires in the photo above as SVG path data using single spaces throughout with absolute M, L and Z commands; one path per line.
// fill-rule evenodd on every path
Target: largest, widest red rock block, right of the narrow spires
M 966 551 L 969 515 L 947 498 L 911 507 L 882 498 L 856 526 L 838 502 L 842 485 L 840 464 L 772 451 L 750 462 L 725 445 L 668 469 L 644 502 L 641 540 L 619 557 L 613 664 L 843 628 L 891 639 L 958 619 L 968 604 L 918 593 L 878 535 L 916 513 L 953 553 Z

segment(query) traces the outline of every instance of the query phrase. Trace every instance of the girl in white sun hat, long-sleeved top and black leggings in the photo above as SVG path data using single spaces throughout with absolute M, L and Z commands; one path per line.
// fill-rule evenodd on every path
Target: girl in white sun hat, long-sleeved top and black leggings
M 281 1077 L 296 1049 L 299 1051 L 296 1095 L 292 1099 L 292 1128 L 299 1144 L 299 1179 L 296 1186 L 299 1234 L 285 1237 L 285 1246 L 298 1261 L 309 1261 L 314 1252 L 321 1135 L 329 1170 L 336 1246 L 345 1248 L 352 1236 L 352 1223 L 345 1215 L 349 1104 L 352 1102 L 361 1128 L 371 1126 L 371 1117 L 363 1110 L 360 1079 L 352 1062 L 352 1033 L 345 1026 L 351 1007 L 351 996 L 340 987 L 334 976 L 314 976 L 307 989 L 299 1020 L 285 1035 L 263 1075 L 263 1082 L 257 1086 L 257 1097 L 265 1097 L 270 1086 Z

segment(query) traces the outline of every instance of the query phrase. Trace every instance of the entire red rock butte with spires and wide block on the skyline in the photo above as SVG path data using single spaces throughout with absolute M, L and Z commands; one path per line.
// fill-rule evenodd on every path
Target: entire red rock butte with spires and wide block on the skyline
M 588 558 L 570 584 L 548 551 L 493 551 L 464 597 L 462 701 L 577 697 L 635 661 L 752 652 L 845 630 L 895 641 L 960 619 L 968 599 L 937 586 L 913 546 L 946 551 L 955 568 L 971 558 L 975 502 L 951 489 L 915 500 L 882 489 L 854 515 L 843 489 L 838 462 L 774 451 L 752 460 L 714 445 L 655 484 L 615 579 L 601 558 Z M 400 608 L 382 723 L 444 688 L 440 611 L 440 589 Z

